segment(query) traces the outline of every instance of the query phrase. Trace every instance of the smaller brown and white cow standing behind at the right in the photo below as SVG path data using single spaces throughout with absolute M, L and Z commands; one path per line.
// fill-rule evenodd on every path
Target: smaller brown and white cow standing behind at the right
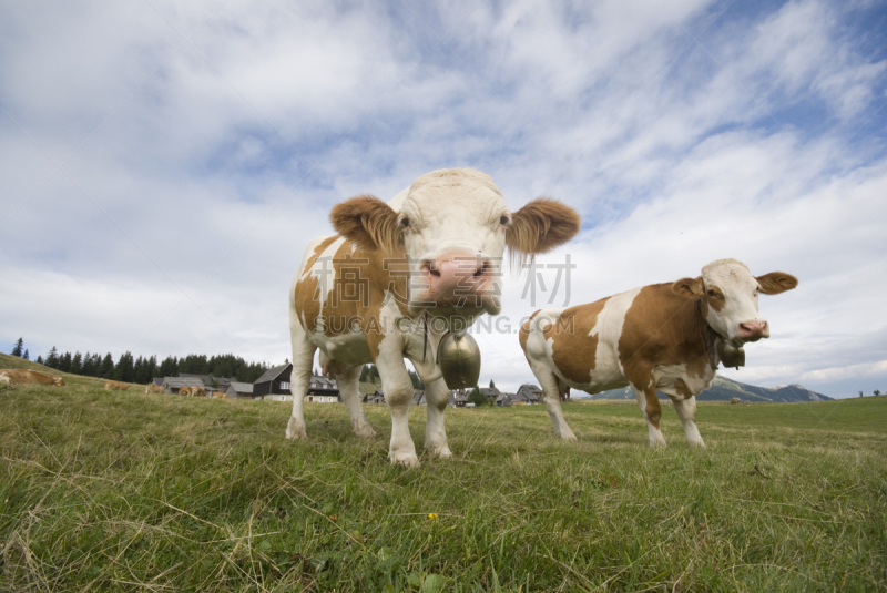
M 741 262 L 718 259 L 702 276 L 653 284 L 567 309 L 536 311 L 520 345 L 544 391 L 554 433 L 575 440 L 559 395 L 569 388 L 599 393 L 631 386 L 646 419 L 650 444 L 665 444 L 656 390 L 667 395 L 691 446 L 705 443 L 696 428 L 696 393 L 720 364 L 718 342 L 738 347 L 769 337 L 757 295 L 797 286 L 782 272 L 752 276 Z

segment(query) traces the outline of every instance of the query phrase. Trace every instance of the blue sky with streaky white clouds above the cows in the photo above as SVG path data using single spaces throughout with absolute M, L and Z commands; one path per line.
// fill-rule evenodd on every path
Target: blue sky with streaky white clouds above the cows
M 799 286 L 722 376 L 887 392 L 885 105 L 877 1 L 2 2 L 0 348 L 281 364 L 333 205 L 471 166 L 582 215 L 481 385 L 533 310 L 734 257 Z

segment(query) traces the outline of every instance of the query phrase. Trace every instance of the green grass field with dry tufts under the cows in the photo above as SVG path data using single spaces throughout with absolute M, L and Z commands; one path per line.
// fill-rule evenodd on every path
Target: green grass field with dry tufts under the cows
M 887 589 L 887 397 L 702 403 L 706 450 L 671 408 L 663 450 L 634 405 L 564 413 L 578 443 L 448 410 L 456 457 L 406 469 L 384 406 L 375 441 L 318 403 L 292 442 L 286 403 L 0 389 L 0 590 Z

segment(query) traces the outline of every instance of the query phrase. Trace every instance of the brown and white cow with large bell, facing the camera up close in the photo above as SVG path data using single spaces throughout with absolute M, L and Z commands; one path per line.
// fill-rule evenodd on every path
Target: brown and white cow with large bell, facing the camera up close
M 364 364 L 376 364 L 391 411 L 388 458 L 418 466 L 407 425 L 414 393 L 408 358 L 425 382 L 426 449 L 450 457 L 443 428 L 449 391 L 435 361 L 440 338 L 499 313 L 506 246 L 517 258 L 548 252 L 575 235 L 579 215 L 548 198 L 512 213 L 488 175 L 450 168 L 422 175 L 387 204 L 368 195 L 347 200 L 329 217 L 339 235 L 308 246 L 289 290 L 293 413 L 286 437 L 307 438 L 303 398 L 319 349 L 324 372 L 336 377 L 351 427 L 364 438 L 376 432 L 360 408 L 358 379 Z

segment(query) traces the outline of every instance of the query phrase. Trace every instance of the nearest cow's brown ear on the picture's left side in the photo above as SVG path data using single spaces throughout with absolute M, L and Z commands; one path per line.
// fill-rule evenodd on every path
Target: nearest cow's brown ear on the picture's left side
M 359 195 L 333 207 L 333 228 L 345 238 L 368 251 L 391 252 L 400 241 L 397 213 L 371 195 Z

